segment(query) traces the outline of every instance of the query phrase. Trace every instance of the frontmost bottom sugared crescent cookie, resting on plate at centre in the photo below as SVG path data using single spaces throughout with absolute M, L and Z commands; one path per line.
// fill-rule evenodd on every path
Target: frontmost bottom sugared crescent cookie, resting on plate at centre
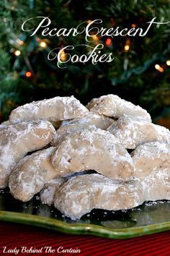
M 55 208 L 73 220 L 94 208 L 120 210 L 143 203 L 140 188 L 133 184 L 117 183 L 99 174 L 86 174 L 68 179 L 54 198 Z

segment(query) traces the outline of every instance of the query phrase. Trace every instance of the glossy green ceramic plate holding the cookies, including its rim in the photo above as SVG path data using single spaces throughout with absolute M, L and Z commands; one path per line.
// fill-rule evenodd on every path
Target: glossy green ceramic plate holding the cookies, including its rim
M 53 207 L 42 205 L 38 195 L 29 202 L 14 200 L 0 190 L 0 220 L 25 223 L 69 234 L 94 234 L 125 239 L 170 230 L 170 201 L 146 202 L 132 210 L 92 210 L 79 221 L 71 221 Z

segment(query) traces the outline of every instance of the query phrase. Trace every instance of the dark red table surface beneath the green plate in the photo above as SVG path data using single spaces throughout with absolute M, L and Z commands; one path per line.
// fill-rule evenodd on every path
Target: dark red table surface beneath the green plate
M 5 248 L 5 252 L 3 252 Z M 15 223 L 0 222 L 0 255 L 8 249 L 19 249 L 17 255 L 170 255 L 170 231 L 133 239 L 107 239 L 97 236 L 62 234 Z M 21 247 L 41 249 L 42 253 L 21 253 Z M 53 253 L 45 253 L 52 247 Z M 63 249 L 80 249 L 80 253 L 58 253 Z

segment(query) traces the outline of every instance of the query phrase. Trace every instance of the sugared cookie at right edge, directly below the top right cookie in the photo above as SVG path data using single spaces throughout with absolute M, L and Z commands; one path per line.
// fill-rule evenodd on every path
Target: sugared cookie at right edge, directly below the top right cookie
M 169 129 L 140 117 L 123 115 L 107 131 L 115 135 L 120 144 L 128 149 L 135 149 L 145 142 L 170 142 Z

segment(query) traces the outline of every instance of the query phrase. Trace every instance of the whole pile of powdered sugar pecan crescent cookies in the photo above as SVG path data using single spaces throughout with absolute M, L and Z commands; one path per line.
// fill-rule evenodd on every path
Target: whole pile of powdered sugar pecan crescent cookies
M 0 188 L 8 186 L 23 202 L 40 192 L 73 220 L 170 200 L 169 129 L 117 95 L 86 107 L 73 96 L 27 103 L 0 125 Z

